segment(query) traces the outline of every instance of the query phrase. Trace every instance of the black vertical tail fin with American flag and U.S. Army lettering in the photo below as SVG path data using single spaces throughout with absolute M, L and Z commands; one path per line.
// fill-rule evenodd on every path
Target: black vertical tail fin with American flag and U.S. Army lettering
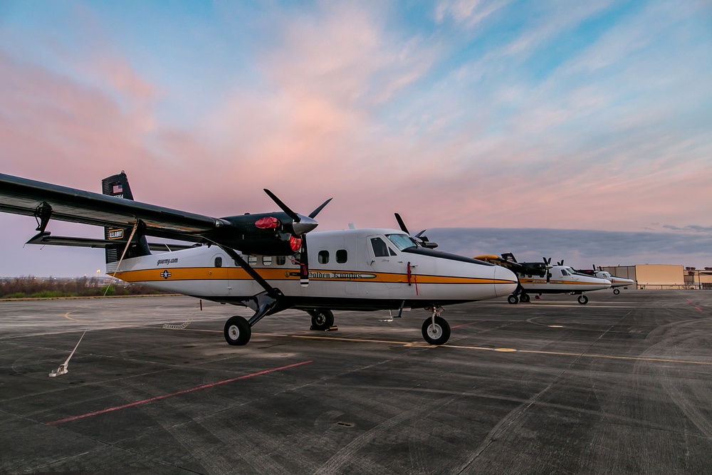
M 122 171 L 120 174 L 115 174 L 101 180 L 101 192 L 112 197 L 123 199 L 133 199 L 131 187 L 126 174 Z M 141 224 L 141 223 L 140 223 Z M 126 243 L 131 236 L 132 228 L 104 228 L 104 239 L 116 241 L 115 246 L 106 246 L 106 273 L 116 271 L 121 254 L 126 247 Z M 134 233 L 131 244 L 129 245 L 124 259 L 139 256 L 148 256 L 151 251 L 148 249 L 146 236 L 143 234 L 141 226 Z

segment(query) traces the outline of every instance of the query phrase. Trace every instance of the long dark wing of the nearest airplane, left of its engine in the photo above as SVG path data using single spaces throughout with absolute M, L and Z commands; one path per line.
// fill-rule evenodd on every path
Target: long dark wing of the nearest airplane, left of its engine
M 42 207 L 51 209 L 51 219 L 94 226 L 131 227 L 141 220 L 148 236 L 185 241 L 199 241 L 201 234 L 229 224 L 211 216 L 0 174 L 0 212 L 39 216 Z

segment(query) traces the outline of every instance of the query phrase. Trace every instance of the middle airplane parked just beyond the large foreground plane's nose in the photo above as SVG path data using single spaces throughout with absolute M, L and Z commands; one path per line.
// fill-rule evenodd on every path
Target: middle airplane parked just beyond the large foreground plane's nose
M 588 297 L 584 292 L 611 287 L 611 281 L 578 273 L 570 266 L 564 266 L 564 261 L 552 266 L 551 258 L 542 262 L 518 262 L 512 253 L 506 253 L 501 257 L 486 255 L 474 259 L 496 263 L 517 274 L 519 285 L 508 296 L 509 303 L 528 303 L 531 301 L 529 294 L 535 294 L 536 298 L 539 298 L 543 293 L 570 293 L 578 295 L 578 303 L 585 305 L 588 303 Z

